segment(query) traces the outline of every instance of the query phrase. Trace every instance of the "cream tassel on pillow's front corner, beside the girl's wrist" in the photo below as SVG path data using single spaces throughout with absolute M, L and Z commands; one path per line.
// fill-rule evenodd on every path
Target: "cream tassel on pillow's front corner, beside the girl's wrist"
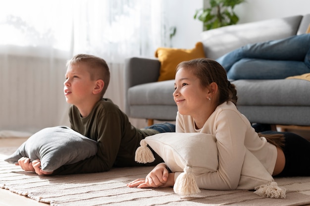
M 196 176 L 192 173 L 190 166 L 186 166 L 184 172 L 176 178 L 173 190 L 176 194 L 182 196 L 190 196 L 201 192 L 196 182 Z

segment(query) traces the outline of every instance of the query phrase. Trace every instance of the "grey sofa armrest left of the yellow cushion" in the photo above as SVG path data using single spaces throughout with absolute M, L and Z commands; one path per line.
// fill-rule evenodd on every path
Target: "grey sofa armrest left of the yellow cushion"
M 159 77 L 160 62 L 157 58 L 130 57 L 125 59 L 124 93 L 125 113 L 129 114 L 128 89 L 135 85 L 156 82 Z

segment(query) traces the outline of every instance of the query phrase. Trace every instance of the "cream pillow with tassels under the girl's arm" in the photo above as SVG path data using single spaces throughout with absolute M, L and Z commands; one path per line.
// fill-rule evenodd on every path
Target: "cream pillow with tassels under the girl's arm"
M 218 169 L 216 138 L 204 133 L 159 133 L 146 137 L 136 151 L 136 161 L 154 161 L 149 145 L 172 172 L 182 172 L 176 179 L 174 191 L 188 196 L 199 193 L 195 175 Z M 207 188 L 205 188 L 207 189 Z M 249 150 L 246 150 L 238 188 L 253 190 L 259 196 L 285 198 L 285 189 L 277 187 L 273 177 Z M 277 192 L 274 192 L 277 191 Z

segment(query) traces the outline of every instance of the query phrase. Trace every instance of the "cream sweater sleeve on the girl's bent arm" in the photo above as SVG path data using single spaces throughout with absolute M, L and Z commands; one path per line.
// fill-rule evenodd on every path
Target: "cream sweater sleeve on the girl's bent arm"
M 218 169 L 197 175 L 197 184 L 200 188 L 211 190 L 236 189 L 246 153 L 244 140 L 247 126 L 238 113 L 223 110 L 215 117 L 213 128 L 217 140 Z M 179 174 L 175 174 L 175 179 Z

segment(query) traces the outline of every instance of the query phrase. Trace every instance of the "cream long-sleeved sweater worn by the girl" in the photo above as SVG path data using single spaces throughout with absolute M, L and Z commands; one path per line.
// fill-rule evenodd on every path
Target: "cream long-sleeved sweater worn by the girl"
M 195 129 L 195 122 L 191 116 L 178 112 L 176 132 L 200 132 L 216 137 L 218 170 L 198 175 L 199 188 L 236 189 L 241 177 L 246 150 L 257 157 L 270 175 L 273 172 L 277 158 L 276 147 L 268 143 L 265 138 L 259 138 L 249 120 L 231 102 L 217 106 L 204 127 L 198 130 Z M 175 173 L 175 179 L 179 174 L 179 172 Z

